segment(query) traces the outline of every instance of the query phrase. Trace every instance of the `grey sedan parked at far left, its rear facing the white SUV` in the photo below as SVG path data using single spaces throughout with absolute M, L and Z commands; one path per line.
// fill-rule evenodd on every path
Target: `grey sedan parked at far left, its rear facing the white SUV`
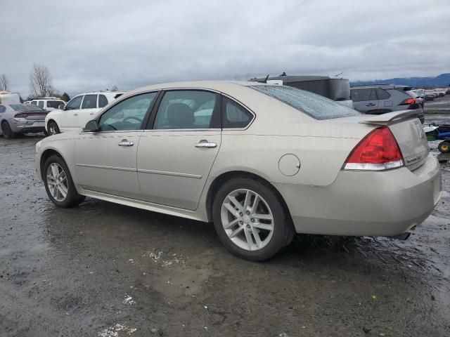
M 0 105 L 0 128 L 4 138 L 14 138 L 20 133 L 45 131 L 44 121 L 48 111 L 34 105 Z

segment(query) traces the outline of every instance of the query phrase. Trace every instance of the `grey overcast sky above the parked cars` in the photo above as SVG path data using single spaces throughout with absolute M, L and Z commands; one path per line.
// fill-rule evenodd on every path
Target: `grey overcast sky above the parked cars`
M 33 63 L 70 95 L 162 81 L 450 72 L 449 0 L 7 1 L 0 74 L 28 95 Z

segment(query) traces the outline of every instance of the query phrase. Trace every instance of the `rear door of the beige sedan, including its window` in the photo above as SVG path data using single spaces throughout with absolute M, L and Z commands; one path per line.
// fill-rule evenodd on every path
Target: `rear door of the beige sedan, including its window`
M 220 95 L 166 91 L 148 128 L 138 147 L 142 198 L 197 209 L 221 144 Z

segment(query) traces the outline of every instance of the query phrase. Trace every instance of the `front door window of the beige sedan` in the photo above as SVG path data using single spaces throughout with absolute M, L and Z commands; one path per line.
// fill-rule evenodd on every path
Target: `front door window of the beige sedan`
M 100 131 L 141 130 L 141 124 L 156 93 L 143 93 L 117 103 L 98 122 Z

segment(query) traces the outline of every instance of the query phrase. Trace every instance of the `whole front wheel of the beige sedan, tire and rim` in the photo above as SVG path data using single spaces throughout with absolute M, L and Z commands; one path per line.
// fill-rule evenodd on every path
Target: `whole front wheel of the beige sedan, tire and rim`
M 44 165 L 44 185 L 53 204 L 68 208 L 77 206 L 85 197 L 79 195 L 63 158 L 53 155 Z

